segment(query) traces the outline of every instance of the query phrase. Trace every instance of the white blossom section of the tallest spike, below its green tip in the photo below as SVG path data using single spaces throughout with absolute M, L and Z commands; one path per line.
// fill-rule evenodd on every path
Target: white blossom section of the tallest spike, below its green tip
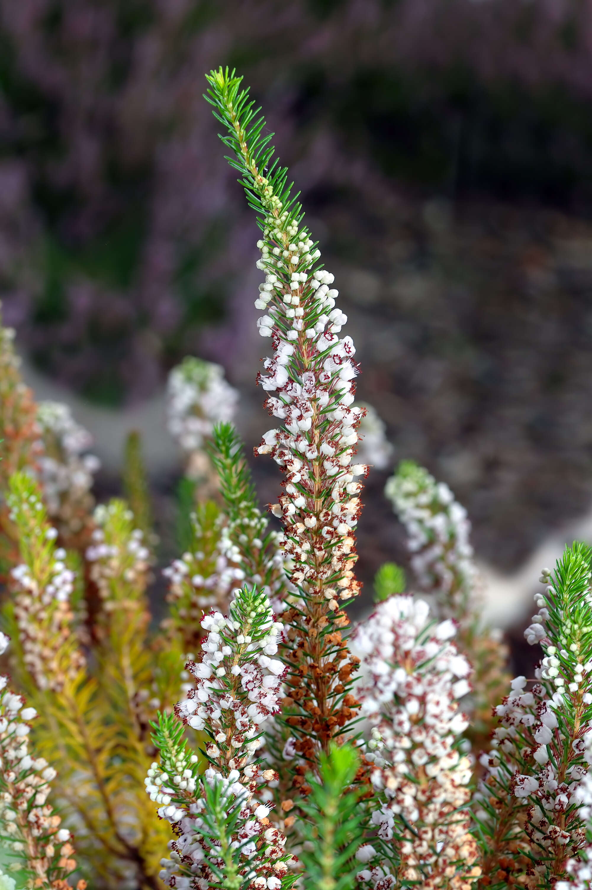
M 351 599 L 360 589 L 352 571 L 360 514 L 356 478 L 368 468 L 353 463 L 362 414 L 351 407 L 358 369 L 352 338 L 338 336 L 347 317 L 334 308 L 333 275 L 309 271 L 320 251 L 312 249 L 306 231 L 298 234 L 293 225 L 288 249 L 269 247 L 283 238 L 283 222 L 282 214 L 270 214 L 265 240 L 257 242 L 266 276 L 255 306 L 269 312 L 257 325 L 274 346 L 272 358 L 264 360 L 267 373 L 258 379 L 275 393 L 265 407 L 284 421 L 264 434 L 258 452 L 271 454 L 286 473 L 285 494 L 272 509 L 285 525 L 280 543 L 294 560 L 291 579 L 319 590 L 337 611 L 338 599 Z

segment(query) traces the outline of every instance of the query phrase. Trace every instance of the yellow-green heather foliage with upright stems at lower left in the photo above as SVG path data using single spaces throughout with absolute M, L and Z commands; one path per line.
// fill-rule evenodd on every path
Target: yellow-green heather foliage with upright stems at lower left
M 40 715 L 36 748 L 58 770 L 57 796 L 77 832 L 78 852 L 93 872 L 93 885 L 118 886 L 131 874 L 138 886 L 157 887 L 158 860 L 170 831 L 143 790 L 153 756 L 149 721 L 161 704 L 157 694 L 167 708 L 179 698 L 182 659 L 177 648 L 163 653 L 158 664 L 158 652 L 147 639 L 147 565 L 133 516 L 123 501 L 97 516 L 95 538 L 102 535 L 102 540 L 94 546 L 104 546 L 91 554 L 91 573 L 101 591 L 101 611 L 87 667 L 71 633 L 68 603 L 48 596 L 55 563 L 61 561 L 36 484 L 17 473 L 10 492 L 20 557 L 33 584 L 26 595 L 15 580 L 4 619 L 14 640 L 16 675 Z M 96 556 L 105 547 L 107 555 Z M 23 596 L 32 603 L 24 619 Z M 50 684 L 54 688 L 45 686 L 27 651 L 29 637 L 36 634 L 49 653 L 42 658 L 48 679 L 58 677 Z

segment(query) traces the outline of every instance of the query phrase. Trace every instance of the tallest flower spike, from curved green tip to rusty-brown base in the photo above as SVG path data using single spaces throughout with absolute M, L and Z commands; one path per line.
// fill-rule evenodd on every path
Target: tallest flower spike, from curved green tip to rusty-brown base
M 272 160 L 272 134 L 263 135 L 259 109 L 228 69 L 207 76 L 208 101 L 228 129 L 221 137 L 236 156 L 249 205 L 263 239 L 257 242 L 264 271 L 255 307 L 261 336 L 272 338 L 258 382 L 269 393 L 265 407 L 280 425 L 264 434 L 256 451 L 270 454 L 285 473 L 284 493 L 272 506 L 284 526 L 281 545 L 293 561 L 296 587 L 288 623 L 291 670 L 284 708 L 296 736 L 293 747 L 314 762 L 329 740 L 345 732 L 358 702 L 349 692 L 358 661 L 342 642 L 341 611 L 360 592 L 353 577 L 354 529 L 360 514 L 361 476 L 354 463 L 364 409 L 353 408 L 358 367 L 351 337 L 340 337 L 347 320 L 335 308 L 333 275 L 303 225 L 304 213 L 287 186 L 287 169 Z

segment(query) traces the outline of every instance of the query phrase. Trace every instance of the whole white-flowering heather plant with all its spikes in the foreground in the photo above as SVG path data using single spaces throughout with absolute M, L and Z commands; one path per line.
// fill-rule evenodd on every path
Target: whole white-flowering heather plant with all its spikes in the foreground
M 257 379 L 277 425 L 255 454 L 280 467 L 281 493 L 265 514 L 231 387 L 185 360 L 169 417 L 209 470 L 184 479 L 168 611 L 151 622 L 158 542 L 139 439 L 128 501 L 93 506 L 74 472 L 87 438 L 68 409 L 35 405 L 2 329 L 18 692 L 3 681 L 0 842 L 14 868 L 0 886 L 588 887 L 592 549 L 575 543 L 542 570 L 526 638 L 543 658 L 510 679 L 479 618 L 466 511 L 403 462 L 385 492 L 410 565 L 385 562 L 375 611 L 350 629 L 362 479 L 393 451 L 355 404 L 347 319 L 264 118 L 228 70 L 207 84 L 263 236 L 255 307 L 272 354 Z M 40 469 L 56 442 L 60 486 Z

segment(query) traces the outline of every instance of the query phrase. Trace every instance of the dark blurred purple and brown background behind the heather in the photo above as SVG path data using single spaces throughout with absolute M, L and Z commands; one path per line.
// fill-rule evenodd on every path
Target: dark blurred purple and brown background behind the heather
M 450 484 L 502 576 L 585 521 L 589 0 L 2 0 L 0 13 L 4 320 L 39 397 L 69 401 L 93 433 L 105 491 L 139 426 L 166 522 L 181 465 L 163 388 L 186 354 L 241 391 L 249 452 L 269 425 L 257 230 L 202 99 L 204 72 L 228 64 L 302 191 L 359 396 L 395 458 Z M 270 463 L 255 463 L 263 500 Z M 366 580 L 406 561 L 387 474 L 372 471 L 365 497 Z

